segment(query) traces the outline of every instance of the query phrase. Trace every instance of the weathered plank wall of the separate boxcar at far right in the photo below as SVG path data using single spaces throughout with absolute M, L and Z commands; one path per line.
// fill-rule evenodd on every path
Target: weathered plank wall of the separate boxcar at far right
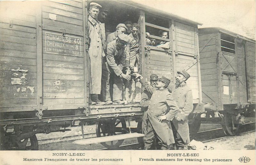
M 221 51 L 222 34 L 199 34 L 203 102 L 213 103 L 217 110 L 223 110 L 223 104 L 240 106 L 255 100 L 255 43 L 235 38 L 235 55 L 230 55 Z

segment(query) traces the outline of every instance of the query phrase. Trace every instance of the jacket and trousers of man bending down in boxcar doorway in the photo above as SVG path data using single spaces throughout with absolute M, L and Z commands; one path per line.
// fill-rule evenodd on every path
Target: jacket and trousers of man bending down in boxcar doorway
M 107 45 L 107 62 L 110 71 L 110 76 L 113 77 L 113 101 L 122 100 L 123 81 L 120 75 L 123 73 L 126 45 L 119 49 L 117 40 L 109 42 Z M 109 89 L 109 87 L 108 87 Z

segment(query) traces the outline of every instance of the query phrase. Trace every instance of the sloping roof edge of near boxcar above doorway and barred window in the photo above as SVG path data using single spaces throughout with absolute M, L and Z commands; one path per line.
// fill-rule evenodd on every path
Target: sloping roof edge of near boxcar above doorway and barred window
M 192 21 L 190 19 L 186 19 L 186 18 L 182 18 L 180 16 L 177 16 L 177 15 L 174 15 L 174 14 L 171 14 L 171 13 L 167 13 L 167 12 L 164 12 L 164 11 L 160 11 L 160 10 L 156 10 L 152 7 L 148 7 L 148 6 L 145 6 L 143 4 L 138 4 L 134 1 L 117 1 L 119 3 L 124 3 L 124 4 L 127 4 L 127 5 L 130 5 L 130 6 L 133 6 L 133 7 L 136 7 L 136 8 L 139 8 L 141 10 L 144 10 L 144 11 L 148 11 L 152 14 L 155 14 L 155 15 L 160 15 L 164 18 L 168 18 L 168 19 L 175 19 L 175 20 L 180 20 L 180 21 L 184 21 L 186 22 L 187 24 L 191 24 L 191 25 L 203 25 L 201 23 L 198 23 L 198 22 L 195 22 L 195 21 Z

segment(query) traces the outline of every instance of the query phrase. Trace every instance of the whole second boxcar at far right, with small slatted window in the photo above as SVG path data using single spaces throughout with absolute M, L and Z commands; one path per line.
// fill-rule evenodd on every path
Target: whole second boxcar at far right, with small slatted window
M 221 28 L 202 28 L 199 50 L 206 117 L 214 118 L 218 111 L 225 133 L 234 135 L 244 113 L 255 117 L 255 40 Z

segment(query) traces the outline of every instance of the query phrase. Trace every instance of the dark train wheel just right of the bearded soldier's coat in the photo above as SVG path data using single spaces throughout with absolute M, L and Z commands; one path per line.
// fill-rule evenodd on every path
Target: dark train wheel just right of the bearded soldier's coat
M 199 131 L 201 126 L 201 113 L 192 113 L 189 115 L 188 126 L 189 126 L 189 134 L 193 138 L 196 133 Z

